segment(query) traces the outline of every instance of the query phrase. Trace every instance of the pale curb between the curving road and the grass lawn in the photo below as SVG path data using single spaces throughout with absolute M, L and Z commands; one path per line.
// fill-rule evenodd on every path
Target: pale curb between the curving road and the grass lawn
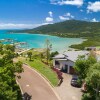
M 51 90 L 54 92 L 54 94 L 56 95 L 56 97 L 58 98 L 58 100 L 61 100 L 61 98 L 59 97 L 59 95 L 55 92 L 55 90 L 53 89 L 54 86 L 51 84 L 51 82 L 43 75 L 41 74 L 39 71 L 37 71 L 35 68 L 31 67 L 28 64 L 23 64 L 26 65 L 26 67 L 30 68 L 32 71 L 34 71 L 35 73 L 37 73 L 47 84 L 48 86 L 51 88 Z

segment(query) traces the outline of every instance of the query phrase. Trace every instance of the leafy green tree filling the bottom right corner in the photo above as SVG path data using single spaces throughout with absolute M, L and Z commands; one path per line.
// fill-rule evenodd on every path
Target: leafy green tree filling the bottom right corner
M 92 65 L 86 77 L 87 93 L 91 100 L 100 100 L 100 62 Z

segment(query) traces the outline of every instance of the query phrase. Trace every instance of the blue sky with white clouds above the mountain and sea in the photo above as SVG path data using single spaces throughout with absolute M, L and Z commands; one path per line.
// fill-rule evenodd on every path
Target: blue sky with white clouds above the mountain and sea
M 100 22 L 100 0 L 0 0 L 0 29 L 34 28 L 71 19 Z

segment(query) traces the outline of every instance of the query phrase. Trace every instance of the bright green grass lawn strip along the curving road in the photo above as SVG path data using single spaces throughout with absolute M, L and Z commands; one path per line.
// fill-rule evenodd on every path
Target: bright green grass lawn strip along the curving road
M 26 60 L 23 57 L 18 58 L 23 63 L 28 63 L 31 67 L 35 68 L 38 72 L 43 74 L 53 86 L 57 86 L 58 84 L 58 77 L 57 74 L 52 71 L 52 69 L 41 62 L 39 59 L 34 59 L 33 61 Z

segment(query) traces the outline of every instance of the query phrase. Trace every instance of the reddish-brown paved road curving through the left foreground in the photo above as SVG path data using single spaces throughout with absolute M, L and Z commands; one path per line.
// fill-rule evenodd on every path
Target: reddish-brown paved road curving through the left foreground
M 21 79 L 17 78 L 22 91 L 32 95 L 31 100 L 58 100 L 50 85 L 38 73 L 27 65 L 23 65 Z

